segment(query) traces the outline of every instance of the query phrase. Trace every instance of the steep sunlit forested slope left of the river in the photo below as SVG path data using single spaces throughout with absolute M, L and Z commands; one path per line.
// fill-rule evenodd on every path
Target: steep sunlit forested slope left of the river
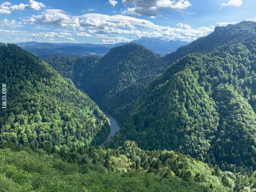
M 107 139 L 110 125 L 98 106 L 45 62 L 14 44 L 1 44 L 0 71 L 0 83 L 7 84 L 1 143 L 51 150 Z

